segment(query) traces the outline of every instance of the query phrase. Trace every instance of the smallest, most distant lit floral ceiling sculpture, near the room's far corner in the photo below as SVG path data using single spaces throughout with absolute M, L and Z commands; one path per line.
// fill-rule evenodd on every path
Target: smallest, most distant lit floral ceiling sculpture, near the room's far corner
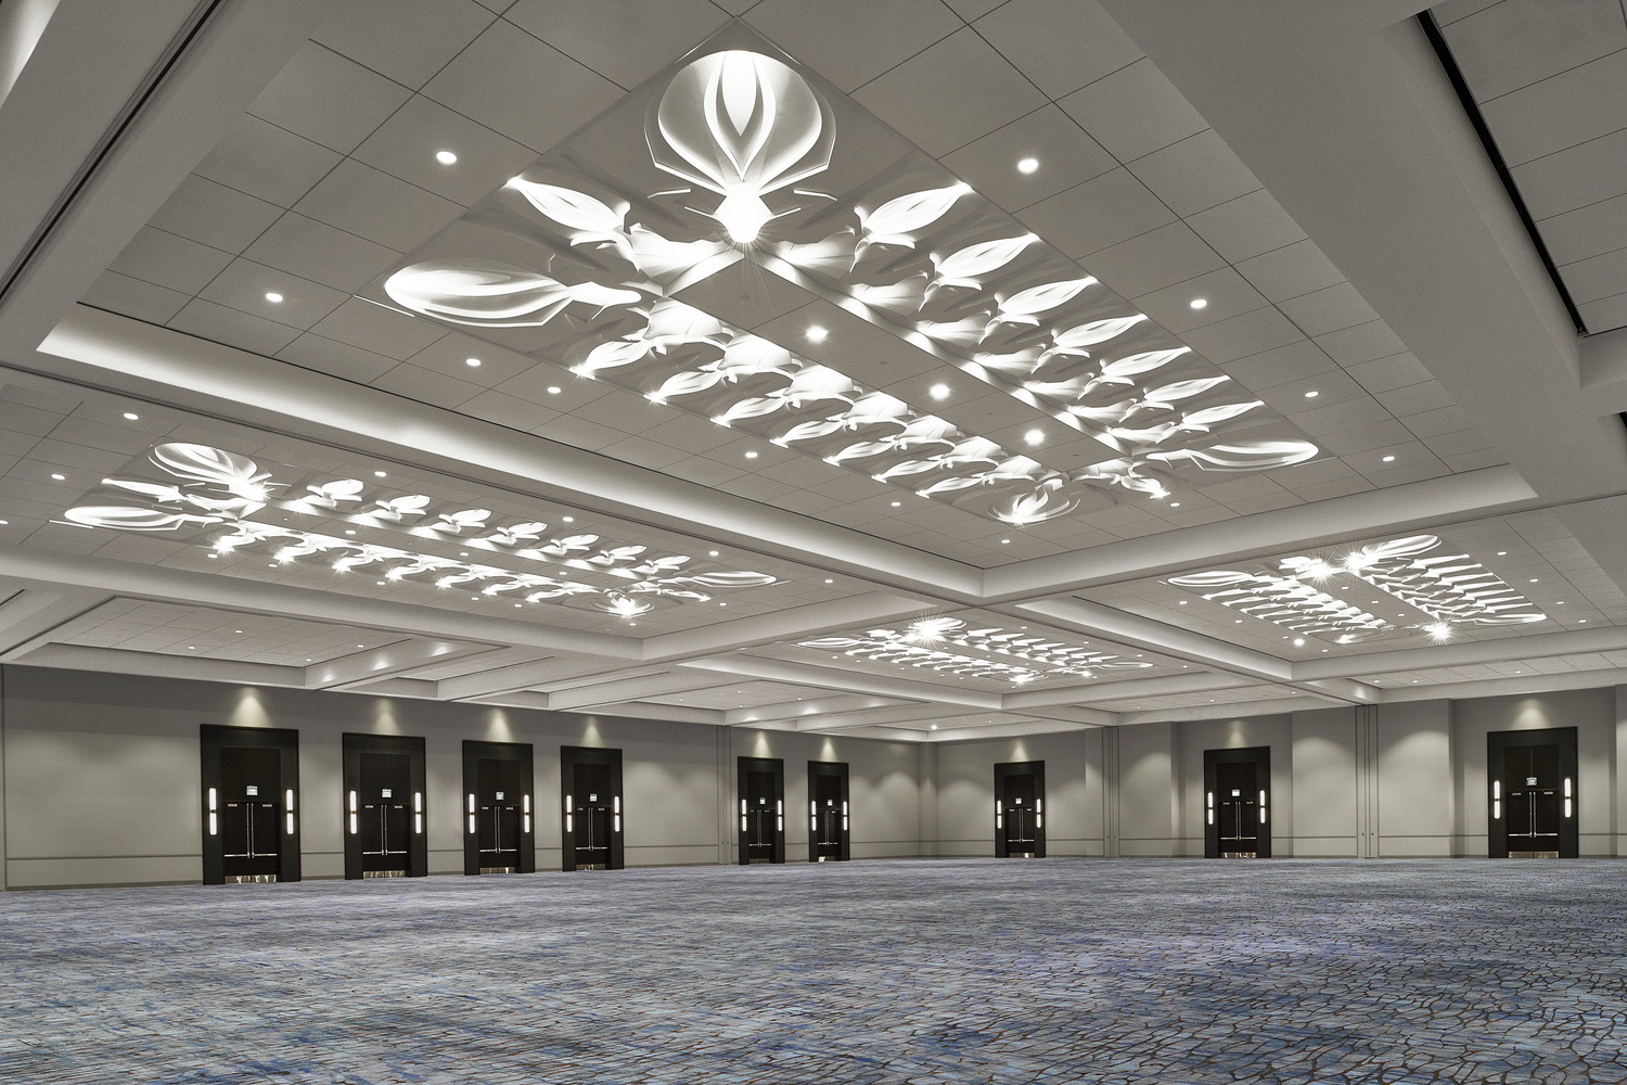
M 1103 670 L 1145 670 L 1152 664 L 1064 644 L 997 626 L 971 628 L 960 618 L 923 618 L 905 630 L 870 630 L 864 636 L 823 636 L 800 647 L 841 652 L 879 664 L 905 664 L 962 678 L 1027 685 L 1043 678 L 1095 678 Z M 965 656 L 945 646 L 997 659 Z M 1020 660 L 1020 662 L 1019 662 Z

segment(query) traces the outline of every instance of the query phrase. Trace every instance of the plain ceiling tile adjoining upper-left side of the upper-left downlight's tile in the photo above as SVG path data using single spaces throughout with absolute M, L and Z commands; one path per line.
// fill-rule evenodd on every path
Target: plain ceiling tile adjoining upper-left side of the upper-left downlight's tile
M 332 49 L 306 42 L 249 112 L 348 155 L 412 94 Z

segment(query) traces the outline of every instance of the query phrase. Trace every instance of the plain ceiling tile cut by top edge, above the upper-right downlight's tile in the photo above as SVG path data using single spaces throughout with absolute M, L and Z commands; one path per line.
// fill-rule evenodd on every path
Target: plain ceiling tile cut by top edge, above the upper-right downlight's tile
M 1142 57 L 1095 0 L 1010 0 L 978 20 L 975 29 L 1049 98 Z

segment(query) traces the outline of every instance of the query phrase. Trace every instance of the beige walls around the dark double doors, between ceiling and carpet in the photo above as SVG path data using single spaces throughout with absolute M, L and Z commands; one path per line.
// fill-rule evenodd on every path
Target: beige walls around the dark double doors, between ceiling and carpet
M 1586 856 L 1627 854 L 1627 686 L 921 745 L 303 690 L 7 667 L 0 885 L 197 882 L 198 726 L 299 732 L 306 877 L 338 877 L 340 737 L 421 735 L 431 874 L 462 870 L 462 740 L 529 742 L 537 869 L 560 865 L 561 745 L 623 752 L 628 865 L 737 857 L 735 758 L 786 763 L 807 859 L 807 761 L 846 761 L 856 859 L 991 856 L 994 771 L 1046 765 L 1053 856 L 1201 856 L 1202 755 L 1271 747 L 1277 856 L 1484 856 L 1485 735 L 1578 729 Z

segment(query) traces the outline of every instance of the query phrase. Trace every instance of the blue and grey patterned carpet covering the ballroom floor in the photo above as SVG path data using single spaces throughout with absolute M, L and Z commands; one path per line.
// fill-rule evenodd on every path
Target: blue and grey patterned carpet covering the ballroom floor
M 1609 861 L 13 893 L 0 1080 L 1598 1085 L 1624 911 Z

